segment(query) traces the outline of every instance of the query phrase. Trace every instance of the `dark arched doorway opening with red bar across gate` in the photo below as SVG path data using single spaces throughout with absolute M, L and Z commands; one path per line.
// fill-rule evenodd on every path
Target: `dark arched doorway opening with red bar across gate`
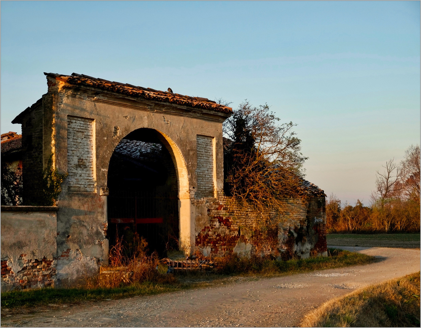
M 153 129 L 125 136 L 115 148 L 108 168 L 108 239 L 117 237 L 127 248 L 143 237 L 149 252 L 165 256 L 178 249 L 179 209 L 173 160 Z

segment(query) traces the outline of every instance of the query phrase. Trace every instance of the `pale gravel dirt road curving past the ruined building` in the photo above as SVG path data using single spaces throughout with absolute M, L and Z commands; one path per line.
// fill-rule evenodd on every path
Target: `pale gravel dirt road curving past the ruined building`
M 420 269 L 420 250 L 344 247 L 379 256 L 378 263 L 255 279 L 156 296 L 45 307 L 30 314 L 2 311 L 2 326 L 32 327 L 285 327 L 354 288 Z

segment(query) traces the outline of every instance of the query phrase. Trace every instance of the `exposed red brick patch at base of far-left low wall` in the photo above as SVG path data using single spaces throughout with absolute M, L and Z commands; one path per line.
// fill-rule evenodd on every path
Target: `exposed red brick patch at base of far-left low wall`
M 13 285 L 13 289 L 53 287 L 56 280 L 56 259 L 41 260 L 27 259 L 27 254 L 21 254 L 19 261 L 23 267 L 13 272 L 9 267 L 9 258 L 1 259 L 1 280 L 3 283 Z M 11 264 L 10 264 L 11 265 Z

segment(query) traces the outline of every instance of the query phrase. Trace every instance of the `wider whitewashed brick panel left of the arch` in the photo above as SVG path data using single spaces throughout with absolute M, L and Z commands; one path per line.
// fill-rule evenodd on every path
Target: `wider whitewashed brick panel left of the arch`
M 67 178 L 69 191 L 94 192 L 93 120 L 67 117 Z

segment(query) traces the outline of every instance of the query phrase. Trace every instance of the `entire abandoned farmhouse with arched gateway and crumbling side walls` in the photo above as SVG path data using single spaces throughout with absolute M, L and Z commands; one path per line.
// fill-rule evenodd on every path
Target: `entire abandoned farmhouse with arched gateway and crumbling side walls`
M 271 234 L 259 234 L 264 217 L 252 204 L 224 194 L 222 123 L 230 107 L 44 74 L 48 92 L 12 122 L 22 135 L 2 135 L 2 161 L 18 163 L 23 181 L 21 203 L 1 207 L 2 291 L 77 284 L 108 265 L 109 249 L 127 231 L 160 256 L 179 249 L 279 257 L 288 248 L 327 255 L 325 194 L 317 186 L 304 181 L 306 200 L 285 200 L 288 213 Z M 49 165 L 67 174 L 53 206 L 43 199 Z

